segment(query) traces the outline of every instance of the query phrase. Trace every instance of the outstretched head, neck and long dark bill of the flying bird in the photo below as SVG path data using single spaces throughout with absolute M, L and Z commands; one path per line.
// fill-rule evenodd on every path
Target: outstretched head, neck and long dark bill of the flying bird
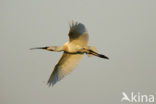
M 47 51 L 55 51 L 55 52 L 63 51 L 62 47 L 60 47 L 60 46 L 35 47 L 35 48 L 31 48 L 30 50 L 34 50 L 34 49 L 44 49 L 44 50 L 47 50 Z

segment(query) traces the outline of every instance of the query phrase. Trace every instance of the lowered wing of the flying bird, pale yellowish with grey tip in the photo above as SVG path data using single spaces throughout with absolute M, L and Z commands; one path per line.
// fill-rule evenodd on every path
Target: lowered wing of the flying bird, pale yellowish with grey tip
M 49 86 L 53 86 L 57 81 L 60 81 L 64 76 L 69 74 L 75 66 L 78 64 L 79 60 L 83 55 L 71 55 L 63 53 L 59 62 L 55 65 L 55 68 L 47 82 Z

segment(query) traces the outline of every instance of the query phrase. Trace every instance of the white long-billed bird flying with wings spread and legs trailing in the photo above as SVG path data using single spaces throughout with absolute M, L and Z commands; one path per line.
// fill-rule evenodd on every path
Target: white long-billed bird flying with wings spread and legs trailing
M 31 48 L 31 50 L 43 49 L 47 51 L 63 52 L 62 57 L 55 65 L 49 80 L 47 81 L 49 86 L 55 85 L 58 81 L 72 72 L 84 54 L 109 59 L 107 56 L 97 53 L 94 46 L 88 46 L 89 35 L 84 24 L 72 21 L 69 23 L 69 27 L 69 40 L 62 46 Z

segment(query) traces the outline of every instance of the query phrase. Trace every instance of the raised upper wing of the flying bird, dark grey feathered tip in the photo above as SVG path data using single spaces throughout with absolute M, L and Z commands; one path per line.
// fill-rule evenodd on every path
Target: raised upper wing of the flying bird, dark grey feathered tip
M 79 40 L 79 43 L 88 43 L 88 32 L 84 24 L 73 22 L 70 24 L 70 30 L 69 30 L 69 40 Z

